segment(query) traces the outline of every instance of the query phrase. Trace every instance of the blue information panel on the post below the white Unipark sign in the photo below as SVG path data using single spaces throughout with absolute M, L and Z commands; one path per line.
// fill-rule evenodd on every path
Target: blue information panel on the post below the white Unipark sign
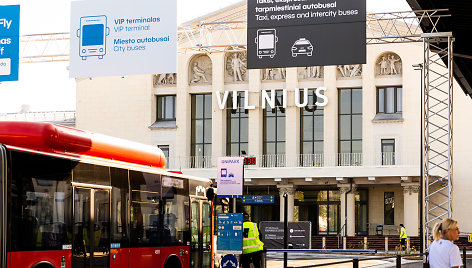
M 218 213 L 216 252 L 241 254 L 243 252 L 243 214 Z

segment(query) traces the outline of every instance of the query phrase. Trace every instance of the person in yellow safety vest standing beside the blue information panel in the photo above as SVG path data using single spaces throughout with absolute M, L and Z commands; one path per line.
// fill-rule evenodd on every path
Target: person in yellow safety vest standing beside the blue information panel
M 250 221 L 249 214 L 243 215 L 243 254 L 241 255 L 242 268 L 262 267 L 262 250 L 264 243 L 259 240 L 257 224 Z

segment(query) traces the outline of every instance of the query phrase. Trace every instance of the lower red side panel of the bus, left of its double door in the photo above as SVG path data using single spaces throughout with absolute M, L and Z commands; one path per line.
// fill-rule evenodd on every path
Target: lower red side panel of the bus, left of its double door
M 66 258 L 66 267 L 71 267 L 70 250 L 11 252 L 9 255 L 9 268 L 31 268 L 42 261 L 50 262 L 54 267 L 61 267 L 62 257 Z

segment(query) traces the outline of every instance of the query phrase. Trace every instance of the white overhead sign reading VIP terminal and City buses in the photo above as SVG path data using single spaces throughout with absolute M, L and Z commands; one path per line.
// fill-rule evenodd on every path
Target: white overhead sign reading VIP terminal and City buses
M 70 76 L 175 73 L 177 1 L 72 1 Z

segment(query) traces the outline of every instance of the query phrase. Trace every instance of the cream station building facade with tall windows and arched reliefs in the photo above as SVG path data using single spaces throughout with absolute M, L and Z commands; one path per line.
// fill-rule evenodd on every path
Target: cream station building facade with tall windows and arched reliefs
M 190 23 L 246 13 L 242 2 Z M 246 53 L 181 50 L 176 74 L 77 79 L 76 126 L 159 146 L 169 169 L 200 177 L 216 178 L 218 157 L 256 157 L 244 194 L 275 204 L 245 206 L 255 221 L 283 219 L 287 193 L 288 218 L 311 221 L 313 235 L 378 226 L 396 235 L 403 223 L 417 236 L 422 104 L 412 66 L 423 62 L 422 44 L 368 45 L 362 65 L 286 69 L 248 70 Z M 455 92 L 453 210 L 470 232 L 472 103 Z

